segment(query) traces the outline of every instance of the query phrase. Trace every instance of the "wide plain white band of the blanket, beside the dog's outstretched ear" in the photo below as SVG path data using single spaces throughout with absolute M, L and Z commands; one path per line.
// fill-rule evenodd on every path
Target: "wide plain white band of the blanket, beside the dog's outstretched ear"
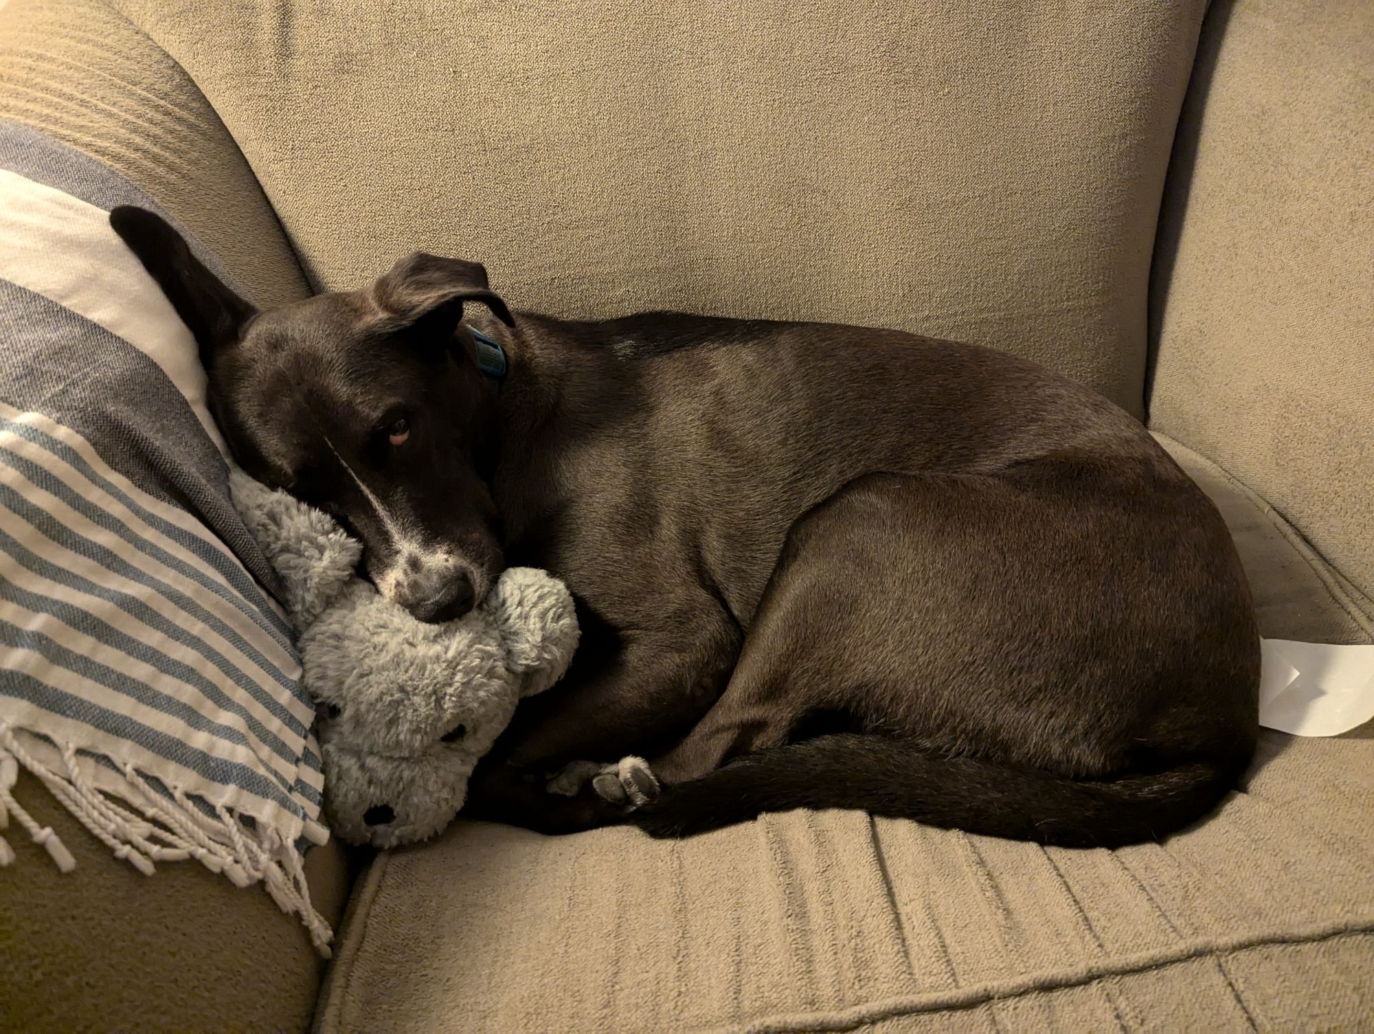
M 0 169 L 0 278 L 124 338 L 162 367 L 205 433 L 228 456 L 205 407 L 195 340 L 110 214 L 81 198 Z

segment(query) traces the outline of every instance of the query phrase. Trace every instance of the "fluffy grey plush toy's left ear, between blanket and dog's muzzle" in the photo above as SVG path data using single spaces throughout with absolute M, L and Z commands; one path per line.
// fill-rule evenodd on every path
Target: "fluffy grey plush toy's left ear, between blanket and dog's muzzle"
M 282 604 L 304 631 L 353 579 L 363 544 L 327 513 L 268 488 L 239 469 L 229 472 L 229 495 L 276 571 Z

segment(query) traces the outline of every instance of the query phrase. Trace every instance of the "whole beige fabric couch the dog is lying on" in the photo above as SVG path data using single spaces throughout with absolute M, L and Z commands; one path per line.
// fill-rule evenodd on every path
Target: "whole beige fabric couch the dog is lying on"
M 10 0 L 0 116 L 142 184 L 261 304 L 422 248 L 519 308 L 1033 356 L 1212 494 L 1265 635 L 1370 642 L 1374 8 L 1204 8 Z M 331 968 L 260 890 L 144 879 L 19 793 L 80 865 L 15 843 L 0 872 L 5 1030 L 1374 1024 L 1369 726 L 1265 732 L 1220 814 L 1121 851 L 859 813 L 330 846 Z

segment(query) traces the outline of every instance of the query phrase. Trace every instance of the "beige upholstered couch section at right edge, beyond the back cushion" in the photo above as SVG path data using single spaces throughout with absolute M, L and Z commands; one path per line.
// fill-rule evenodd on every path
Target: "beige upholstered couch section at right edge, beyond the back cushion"
M 1374 594 L 1374 7 L 1212 4 L 1151 283 L 1149 421 Z

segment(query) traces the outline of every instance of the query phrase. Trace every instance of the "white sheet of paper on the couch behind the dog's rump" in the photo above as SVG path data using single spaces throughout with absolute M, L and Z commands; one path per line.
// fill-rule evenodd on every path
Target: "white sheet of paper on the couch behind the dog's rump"
M 1374 719 L 1374 645 L 1260 641 L 1260 725 L 1340 736 Z

